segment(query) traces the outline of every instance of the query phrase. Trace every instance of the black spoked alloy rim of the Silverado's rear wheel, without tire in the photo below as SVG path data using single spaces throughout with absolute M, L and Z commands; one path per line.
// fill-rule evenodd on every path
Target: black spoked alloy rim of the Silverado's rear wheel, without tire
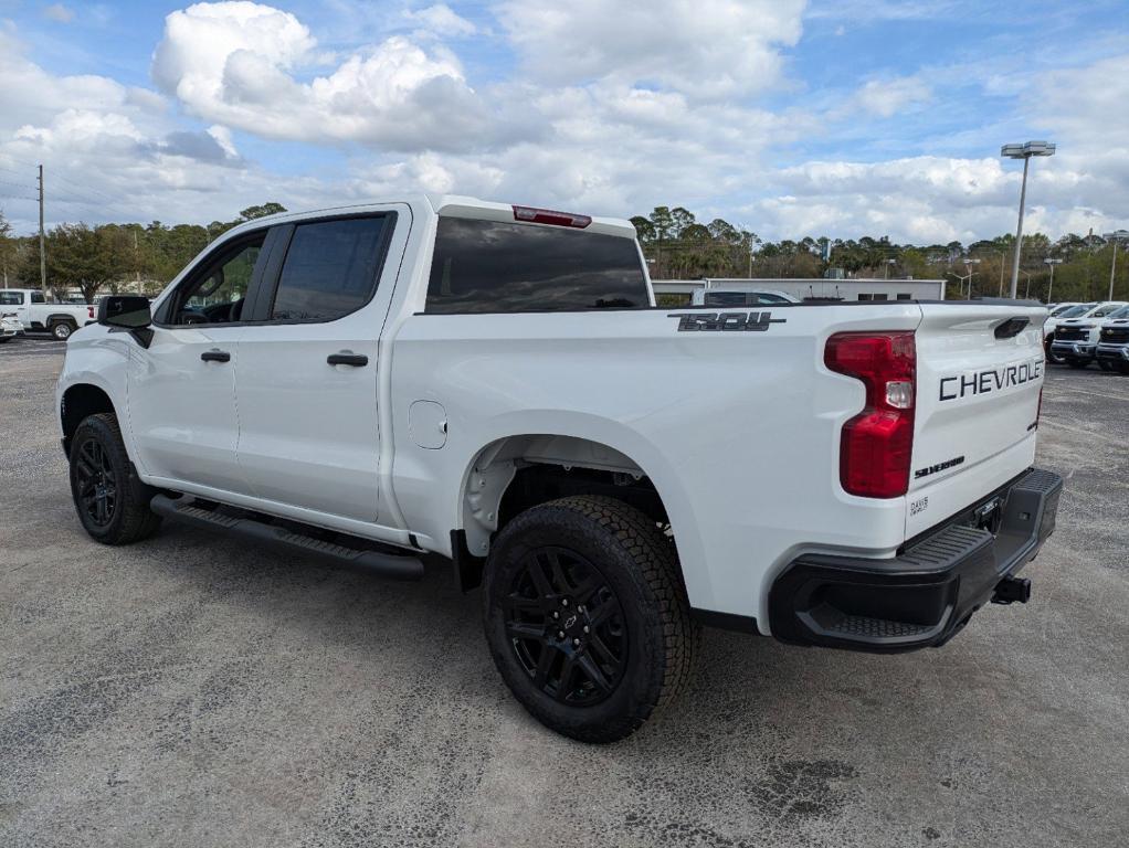
M 557 701 L 592 706 L 623 677 L 628 630 L 620 601 L 576 551 L 530 551 L 504 601 L 506 633 L 533 685 Z

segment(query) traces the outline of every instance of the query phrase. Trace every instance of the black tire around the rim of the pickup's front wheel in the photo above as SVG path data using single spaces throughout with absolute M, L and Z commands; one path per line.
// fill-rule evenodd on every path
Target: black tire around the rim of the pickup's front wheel
M 80 462 L 86 461 L 84 446 L 94 443 L 114 478 L 114 507 L 107 522 L 99 523 L 86 509 L 79 486 Z M 90 416 L 75 430 L 70 445 L 70 483 L 75 510 L 82 528 L 103 544 L 131 544 L 148 539 L 160 526 L 160 516 L 149 508 L 157 490 L 146 486 L 125 453 L 117 418 L 108 412 Z

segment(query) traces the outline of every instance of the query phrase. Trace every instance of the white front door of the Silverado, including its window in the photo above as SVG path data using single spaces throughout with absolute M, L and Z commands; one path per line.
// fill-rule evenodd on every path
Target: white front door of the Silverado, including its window
M 131 352 L 128 405 L 137 460 L 169 488 L 250 493 L 235 455 L 235 368 L 264 236 L 221 245 L 199 263 L 161 303 L 150 346 Z

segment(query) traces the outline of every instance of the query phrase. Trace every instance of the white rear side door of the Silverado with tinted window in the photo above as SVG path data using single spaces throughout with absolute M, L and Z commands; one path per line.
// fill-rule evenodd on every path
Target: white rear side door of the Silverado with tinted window
M 377 519 L 379 338 L 409 221 L 390 204 L 279 228 L 236 366 L 238 461 L 257 497 Z

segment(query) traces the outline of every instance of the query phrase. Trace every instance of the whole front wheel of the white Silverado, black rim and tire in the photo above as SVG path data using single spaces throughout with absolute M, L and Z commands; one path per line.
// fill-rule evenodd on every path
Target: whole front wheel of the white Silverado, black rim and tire
M 138 478 L 110 413 L 90 416 L 75 431 L 70 482 L 82 527 L 103 544 L 138 542 L 160 526 L 160 516 L 149 509 L 157 491 Z

